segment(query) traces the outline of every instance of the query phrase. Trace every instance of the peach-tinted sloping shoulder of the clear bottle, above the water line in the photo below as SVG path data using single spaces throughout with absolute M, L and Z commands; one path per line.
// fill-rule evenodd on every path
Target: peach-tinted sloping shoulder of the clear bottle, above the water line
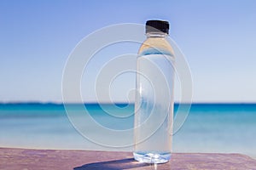
M 169 54 L 174 56 L 174 52 L 171 44 L 164 37 L 149 37 L 147 38 L 141 48 L 139 48 L 138 54 Z

